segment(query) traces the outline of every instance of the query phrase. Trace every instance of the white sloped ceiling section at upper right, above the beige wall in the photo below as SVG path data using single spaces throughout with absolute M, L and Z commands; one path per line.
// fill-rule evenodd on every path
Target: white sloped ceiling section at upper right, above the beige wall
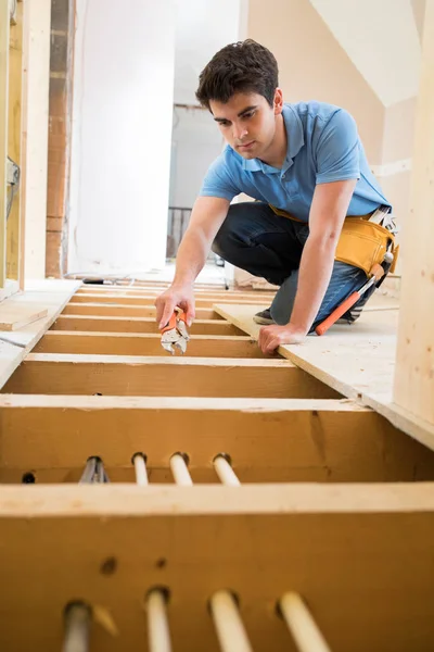
M 418 95 L 418 0 L 310 0 L 385 106 Z

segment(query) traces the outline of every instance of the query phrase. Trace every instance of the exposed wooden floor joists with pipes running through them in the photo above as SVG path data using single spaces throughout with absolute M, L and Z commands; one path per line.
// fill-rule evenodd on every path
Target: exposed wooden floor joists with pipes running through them
M 163 287 L 15 300 L 49 315 L 1 334 L 22 344 L 1 343 L 1 649 L 54 652 L 77 622 L 91 652 L 168 651 L 145 645 L 158 624 L 180 652 L 310 651 L 312 628 L 332 652 L 430 649 L 434 453 L 332 373 L 361 330 L 388 351 L 396 306 L 298 364 L 252 337 L 271 292 L 199 286 L 181 358 L 161 347 Z M 334 351 L 323 377 L 315 346 Z

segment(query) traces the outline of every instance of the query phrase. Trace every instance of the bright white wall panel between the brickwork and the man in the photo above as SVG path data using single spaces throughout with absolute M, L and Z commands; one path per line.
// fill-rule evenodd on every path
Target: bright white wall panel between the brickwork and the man
M 68 272 L 164 265 L 174 0 L 77 0 Z

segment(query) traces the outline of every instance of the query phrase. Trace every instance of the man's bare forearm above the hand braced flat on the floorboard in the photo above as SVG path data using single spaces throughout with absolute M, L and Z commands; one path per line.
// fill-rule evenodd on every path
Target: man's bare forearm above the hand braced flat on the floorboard
M 291 324 L 308 333 L 318 314 L 333 271 L 336 242 L 307 239 L 298 272 L 298 287 Z

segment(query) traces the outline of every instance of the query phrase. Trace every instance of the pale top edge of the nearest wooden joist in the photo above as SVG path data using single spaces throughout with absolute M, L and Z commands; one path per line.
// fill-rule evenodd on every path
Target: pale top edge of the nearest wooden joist
M 434 513 L 434 482 L 5 485 L 3 518 Z

